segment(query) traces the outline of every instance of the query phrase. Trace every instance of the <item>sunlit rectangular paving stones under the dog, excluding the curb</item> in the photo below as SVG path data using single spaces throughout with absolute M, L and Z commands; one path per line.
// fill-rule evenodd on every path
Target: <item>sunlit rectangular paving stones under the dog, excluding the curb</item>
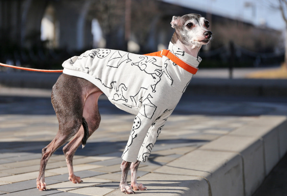
M 38 174 L 41 149 L 55 137 L 58 126 L 56 116 L 1 115 L 1 193 L 105 195 L 113 192 L 118 188 L 121 178 L 121 153 L 125 148 L 133 118 L 133 115 L 102 115 L 100 128 L 89 138 L 84 149 L 77 150 L 73 160 L 75 174 L 81 176 L 83 183 L 69 182 L 63 152 L 61 149 L 55 152 L 47 164 L 45 173 L 47 188 L 51 190 L 40 192 L 35 188 L 35 178 Z M 252 122 L 255 118 L 257 117 L 171 116 L 149 161 L 140 164 L 138 174 L 145 176 L 203 144 Z M 171 178 L 155 184 L 153 180 L 156 179 L 151 177 L 149 182 L 145 183 L 149 188 L 146 193 L 156 191 L 155 187 L 164 189 L 165 184 L 175 180 Z M 182 179 L 177 179 L 173 182 L 174 185 L 168 186 L 176 188 L 174 192 L 184 192 L 177 187 L 177 184 L 181 187 L 180 180 Z

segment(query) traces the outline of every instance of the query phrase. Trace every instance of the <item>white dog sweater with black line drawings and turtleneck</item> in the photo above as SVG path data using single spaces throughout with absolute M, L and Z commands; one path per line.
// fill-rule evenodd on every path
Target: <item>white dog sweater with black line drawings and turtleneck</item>
M 169 44 L 169 51 L 197 68 L 201 59 Z M 168 57 L 146 56 L 110 49 L 93 49 L 63 62 L 63 73 L 89 80 L 110 102 L 135 114 L 122 158 L 145 162 L 168 116 L 193 74 Z

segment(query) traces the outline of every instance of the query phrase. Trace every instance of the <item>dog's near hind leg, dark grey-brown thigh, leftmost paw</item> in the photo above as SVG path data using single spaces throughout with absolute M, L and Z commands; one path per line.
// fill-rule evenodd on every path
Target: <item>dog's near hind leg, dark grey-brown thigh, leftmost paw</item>
M 46 190 L 46 164 L 51 155 L 80 129 L 83 123 L 83 90 L 79 78 L 62 74 L 52 89 L 52 104 L 59 121 L 59 130 L 53 141 L 42 149 L 37 188 Z M 80 89 L 80 90 L 79 90 Z

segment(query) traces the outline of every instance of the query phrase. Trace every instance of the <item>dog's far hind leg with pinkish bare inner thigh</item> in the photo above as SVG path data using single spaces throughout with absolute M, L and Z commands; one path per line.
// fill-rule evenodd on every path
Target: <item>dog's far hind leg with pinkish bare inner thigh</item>
M 99 127 L 100 124 L 100 113 L 98 110 L 98 97 L 102 94 L 102 91 L 97 89 L 96 92 L 88 95 L 84 105 L 83 117 L 86 119 L 86 125 L 88 125 L 88 137 Z M 77 148 L 83 144 L 84 138 L 84 127 L 81 126 L 80 130 L 77 132 L 73 140 L 71 140 L 64 148 L 63 152 L 66 157 L 67 167 L 69 170 L 69 180 L 73 183 L 83 182 L 80 177 L 75 176 L 73 172 L 73 156 Z M 87 129 L 87 128 L 86 128 Z M 87 138 L 86 138 L 87 139 Z M 85 143 L 86 141 L 84 141 Z

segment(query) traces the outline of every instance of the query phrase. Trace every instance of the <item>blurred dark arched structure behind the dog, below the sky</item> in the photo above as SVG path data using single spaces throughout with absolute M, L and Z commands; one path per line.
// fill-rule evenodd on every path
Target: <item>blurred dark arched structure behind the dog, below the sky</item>
M 0 62 L 46 66 L 94 47 L 158 51 L 174 32 L 172 16 L 188 13 L 211 22 L 214 39 L 203 56 L 224 61 L 232 42 L 238 57 L 246 52 L 260 63 L 260 53 L 284 49 L 280 31 L 158 0 L 0 0 Z

